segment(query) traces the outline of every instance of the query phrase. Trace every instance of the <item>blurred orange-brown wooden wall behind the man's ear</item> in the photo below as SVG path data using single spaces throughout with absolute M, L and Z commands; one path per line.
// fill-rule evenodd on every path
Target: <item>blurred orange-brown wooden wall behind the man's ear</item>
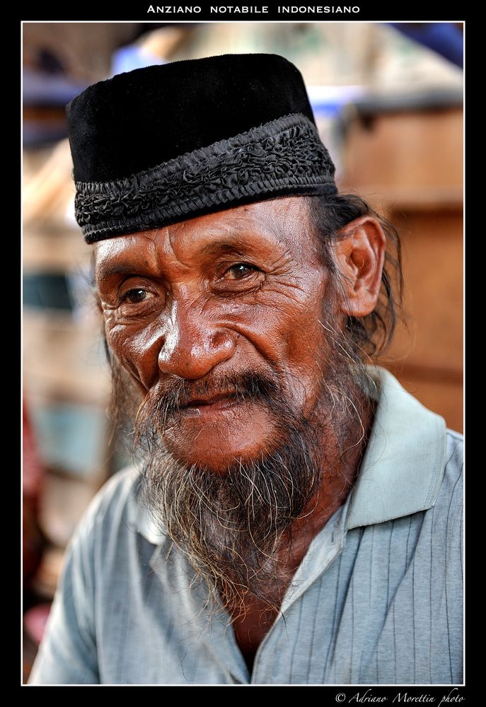
M 408 329 L 383 365 L 463 431 L 463 112 L 461 107 L 356 114 L 344 175 L 398 227 Z

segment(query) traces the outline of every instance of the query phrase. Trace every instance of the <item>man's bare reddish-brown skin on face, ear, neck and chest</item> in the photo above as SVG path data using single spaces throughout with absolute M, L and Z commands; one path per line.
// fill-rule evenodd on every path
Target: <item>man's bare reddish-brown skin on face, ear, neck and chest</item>
M 235 460 L 272 450 L 270 415 L 251 400 L 238 402 L 223 382 L 226 374 L 264 373 L 306 419 L 318 423 L 325 416 L 320 393 L 330 342 L 321 323 L 323 304 L 325 320 L 337 330 L 348 315 L 374 309 L 385 236 L 370 216 L 342 229 L 333 244 L 342 274 L 335 290 L 309 223 L 306 201 L 288 197 L 96 244 L 108 345 L 131 375 L 140 402 L 163 395 L 173 380 L 191 382 L 190 404 L 164 433 L 179 460 L 224 474 Z M 366 430 L 369 412 L 362 422 Z M 323 440 L 330 452 L 332 445 Z M 336 458 L 336 473 L 311 514 L 296 522 L 292 547 L 281 558 L 289 580 L 313 537 L 345 501 L 361 452 L 358 445 L 344 460 Z M 250 598 L 244 608 L 228 607 L 241 650 L 251 660 L 274 613 Z

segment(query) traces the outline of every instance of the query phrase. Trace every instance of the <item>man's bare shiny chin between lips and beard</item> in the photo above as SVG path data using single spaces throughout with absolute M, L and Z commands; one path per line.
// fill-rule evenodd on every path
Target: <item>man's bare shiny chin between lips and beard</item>
M 184 411 L 163 438 L 178 462 L 224 473 L 238 462 L 260 460 L 282 443 L 276 436 L 267 409 L 243 403 Z

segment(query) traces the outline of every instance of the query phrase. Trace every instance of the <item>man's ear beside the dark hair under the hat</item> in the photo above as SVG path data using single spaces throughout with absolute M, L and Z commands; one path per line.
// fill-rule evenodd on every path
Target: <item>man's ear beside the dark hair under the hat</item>
M 344 296 L 340 310 L 349 317 L 365 317 L 376 306 L 385 260 L 386 236 L 373 216 L 360 216 L 344 226 L 332 244 L 342 275 Z

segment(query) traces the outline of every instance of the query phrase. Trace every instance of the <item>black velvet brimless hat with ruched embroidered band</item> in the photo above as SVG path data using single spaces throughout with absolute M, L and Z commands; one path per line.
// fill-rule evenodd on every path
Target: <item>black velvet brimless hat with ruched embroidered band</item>
M 302 76 L 276 54 L 119 74 L 74 98 L 67 123 L 88 243 L 252 201 L 337 192 Z

